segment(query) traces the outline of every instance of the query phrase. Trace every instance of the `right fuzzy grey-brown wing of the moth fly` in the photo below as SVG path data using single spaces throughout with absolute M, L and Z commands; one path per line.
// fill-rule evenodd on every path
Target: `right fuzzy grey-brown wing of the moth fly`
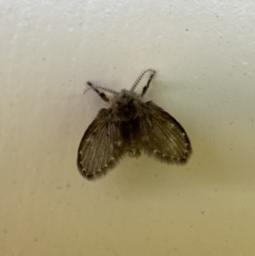
M 166 111 L 148 101 L 142 105 L 140 145 L 149 156 L 167 163 L 184 164 L 192 152 L 184 128 Z

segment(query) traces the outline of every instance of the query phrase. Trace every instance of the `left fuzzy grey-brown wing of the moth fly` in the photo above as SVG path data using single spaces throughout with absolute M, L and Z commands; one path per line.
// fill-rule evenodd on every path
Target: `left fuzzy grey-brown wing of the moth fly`
M 116 166 L 126 152 L 120 126 L 111 109 L 101 109 L 82 137 L 77 168 L 86 179 L 97 179 Z

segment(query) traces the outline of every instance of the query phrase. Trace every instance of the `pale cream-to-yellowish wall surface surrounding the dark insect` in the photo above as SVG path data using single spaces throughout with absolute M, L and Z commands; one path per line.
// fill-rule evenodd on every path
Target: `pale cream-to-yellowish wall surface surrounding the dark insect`
M 253 0 L 0 1 L 0 255 L 255 255 L 254 25 Z M 149 67 L 190 162 L 83 179 L 85 82 Z

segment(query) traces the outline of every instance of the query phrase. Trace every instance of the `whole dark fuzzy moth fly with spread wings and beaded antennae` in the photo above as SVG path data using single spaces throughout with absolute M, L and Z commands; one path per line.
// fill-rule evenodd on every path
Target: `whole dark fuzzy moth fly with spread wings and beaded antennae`
M 135 93 L 148 72 L 150 77 L 142 93 Z M 152 69 L 143 71 L 130 90 L 121 92 L 88 82 L 87 90 L 93 89 L 111 106 L 99 111 L 80 142 L 77 168 L 84 178 L 98 179 L 115 168 L 123 156 L 138 157 L 141 151 L 161 162 L 188 161 L 192 149 L 184 128 L 152 101 L 142 101 L 155 73 Z

